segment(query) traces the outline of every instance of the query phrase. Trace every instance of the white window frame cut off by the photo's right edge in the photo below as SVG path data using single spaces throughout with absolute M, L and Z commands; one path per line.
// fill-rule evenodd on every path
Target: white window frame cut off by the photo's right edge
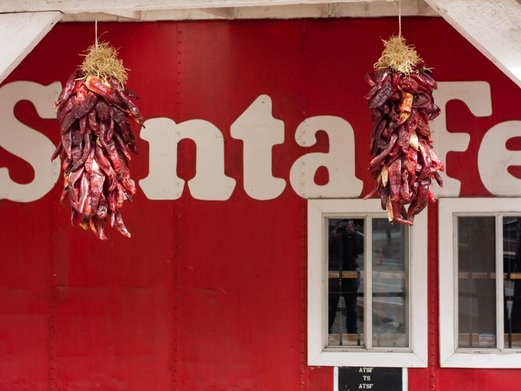
M 503 350 L 503 278 L 496 278 L 496 333 L 499 349 L 457 348 L 457 216 L 495 219 L 497 276 L 503 275 L 503 215 L 520 215 L 521 198 L 439 200 L 440 365 L 447 368 L 521 368 L 521 349 Z

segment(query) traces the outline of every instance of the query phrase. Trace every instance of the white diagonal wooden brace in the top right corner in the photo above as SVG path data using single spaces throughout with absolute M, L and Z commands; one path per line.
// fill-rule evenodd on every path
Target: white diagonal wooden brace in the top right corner
M 516 0 L 426 0 L 521 87 L 521 5 Z

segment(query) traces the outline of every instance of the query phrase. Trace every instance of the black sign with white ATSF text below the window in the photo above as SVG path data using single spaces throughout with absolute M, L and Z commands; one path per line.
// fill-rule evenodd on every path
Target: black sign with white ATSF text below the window
M 340 366 L 338 391 L 402 391 L 402 368 Z

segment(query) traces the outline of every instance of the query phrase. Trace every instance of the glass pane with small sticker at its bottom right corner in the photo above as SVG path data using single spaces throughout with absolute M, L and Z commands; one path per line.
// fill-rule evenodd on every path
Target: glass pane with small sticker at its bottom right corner
M 495 348 L 495 218 L 460 216 L 457 235 L 458 347 Z

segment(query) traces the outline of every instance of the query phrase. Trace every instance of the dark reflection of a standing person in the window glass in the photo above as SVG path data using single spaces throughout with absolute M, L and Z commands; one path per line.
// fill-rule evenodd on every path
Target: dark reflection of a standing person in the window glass
M 363 235 L 355 232 L 351 220 L 340 220 L 329 234 L 329 270 L 339 272 L 338 277 L 329 278 L 328 329 L 331 334 L 338 301 L 345 300 L 345 326 L 348 334 L 358 332 L 356 298 L 359 286 L 357 256 L 363 252 Z M 342 278 L 342 272 L 354 272 Z

